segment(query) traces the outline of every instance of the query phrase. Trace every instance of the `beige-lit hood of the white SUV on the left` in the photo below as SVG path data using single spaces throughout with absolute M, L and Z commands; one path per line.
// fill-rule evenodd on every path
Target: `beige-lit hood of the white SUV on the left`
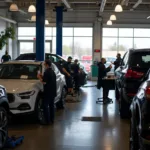
M 32 90 L 38 80 L 6 80 L 0 79 L 0 84 L 6 88 L 7 93 L 22 93 Z

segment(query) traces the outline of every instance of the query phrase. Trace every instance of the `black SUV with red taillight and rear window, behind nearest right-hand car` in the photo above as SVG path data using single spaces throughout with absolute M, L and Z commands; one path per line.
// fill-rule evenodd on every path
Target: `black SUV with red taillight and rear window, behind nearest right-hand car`
M 129 106 L 149 67 L 150 49 L 131 49 L 125 53 L 120 67 L 116 69 L 115 93 L 121 118 L 129 116 Z

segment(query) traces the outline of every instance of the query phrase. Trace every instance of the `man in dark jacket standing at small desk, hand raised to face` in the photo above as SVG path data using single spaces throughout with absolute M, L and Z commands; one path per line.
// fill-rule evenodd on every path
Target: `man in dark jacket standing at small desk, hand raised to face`
M 108 98 L 109 94 L 109 87 L 103 83 L 103 78 L 106 77 L 107 72 L 109 72 L 112 68 L 110 65 L 108 68 L 105 67 L 106 59 L 101 58 L 101 62 L 98 63 L 98 83 L 97 88 L 100 89 L 103 87 L 103 99 L 104 101 L 110 101 L 111 99 Z

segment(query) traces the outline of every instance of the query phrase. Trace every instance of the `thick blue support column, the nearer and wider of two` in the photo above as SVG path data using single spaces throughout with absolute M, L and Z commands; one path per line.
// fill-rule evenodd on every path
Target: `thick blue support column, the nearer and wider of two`
M 45 0 L 36 0 L 36 60 L 45 59 Z

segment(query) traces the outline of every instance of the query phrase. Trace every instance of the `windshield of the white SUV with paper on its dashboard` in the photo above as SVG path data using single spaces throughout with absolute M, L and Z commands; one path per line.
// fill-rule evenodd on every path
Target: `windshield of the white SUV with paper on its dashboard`
M 2 64 L 0 65 L 0 79 L 37 79 L 40 65 Z

